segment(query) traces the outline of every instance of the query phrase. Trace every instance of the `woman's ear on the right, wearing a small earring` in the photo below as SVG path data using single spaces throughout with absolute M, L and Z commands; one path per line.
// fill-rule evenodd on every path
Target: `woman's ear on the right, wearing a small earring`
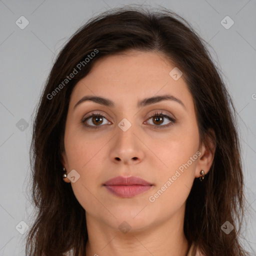
M 205 134 L 204 142 L 202 142 L 201 146 L 199 147 L 199 152 L 201 152 L 201 154 L 196 165 L 195 177 L 200 177 L 201 170 L 204 170 L 205 174 L 209 171 L 214 159 L 215 150 L 215 132 L 213 129 L 209 129 L 208 132 Z

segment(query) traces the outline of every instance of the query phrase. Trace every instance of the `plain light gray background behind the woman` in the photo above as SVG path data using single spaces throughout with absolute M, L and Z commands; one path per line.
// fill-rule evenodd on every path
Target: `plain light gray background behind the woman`
M 55 55 L 92 15 L 131 3 L 172 9 L 214 49 L 209 48 L 223 72 L 240 128 L 247 198 L 247 225 L 243 226 L 246 240 L 242 243 L 255 253 L 255 0 L 0 0 L 0 256 L 25 255 L 26 233 L 20 233 L 25 224 L 20 221 L 28 226 L 33 221 L 28 155 L 31 118 Z M 21 23 L 22 15 L 29 21 L 24 29 L 15 23 Z M 220 23 L 226 15 L 234 21 L 229 29 Z M 224 22 L 231 24 L 228 19 Z

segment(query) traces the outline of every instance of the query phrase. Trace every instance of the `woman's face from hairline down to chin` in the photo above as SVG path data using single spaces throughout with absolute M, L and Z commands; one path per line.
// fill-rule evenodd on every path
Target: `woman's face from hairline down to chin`
M 115 229 L 126 221 L 142 230 L 182 219 L 194 178 L 211 162 L 199 145 L 187 85 L 169 74 L 174 67 L 160 53 L 128 51 L 101 58 L 75 85 L 62 163 L 72 170 L 72 190 L 86 220 Z M 77 104 L 84 96 L 106 100 Z M 116 176 L 149 185 L 105 185 Z

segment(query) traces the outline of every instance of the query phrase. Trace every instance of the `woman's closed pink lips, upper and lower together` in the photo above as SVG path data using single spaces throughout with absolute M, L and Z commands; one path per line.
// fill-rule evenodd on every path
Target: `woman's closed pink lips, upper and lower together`
M 123 198 L 133 197 L 147 191 L 153 186 L 148 181 L 136 176 L 117 176 L 107 180 L 103 185 L 111 193 Z

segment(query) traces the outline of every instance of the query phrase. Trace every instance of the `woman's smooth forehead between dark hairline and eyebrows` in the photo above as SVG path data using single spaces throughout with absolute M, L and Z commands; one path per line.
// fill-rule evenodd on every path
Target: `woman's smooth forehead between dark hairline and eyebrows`
M 171 93 L 188 106 L 192 98 L 185 81 L 182 76 L 174 80 L 169 74 L 174 67 L 158 52 L 128 51 L 104 56 L 77 82 L 70 104 L 74 105 L 86 94 L 111 98 L 123 105 L 133 101 L 137 103 L 153 95 Z

